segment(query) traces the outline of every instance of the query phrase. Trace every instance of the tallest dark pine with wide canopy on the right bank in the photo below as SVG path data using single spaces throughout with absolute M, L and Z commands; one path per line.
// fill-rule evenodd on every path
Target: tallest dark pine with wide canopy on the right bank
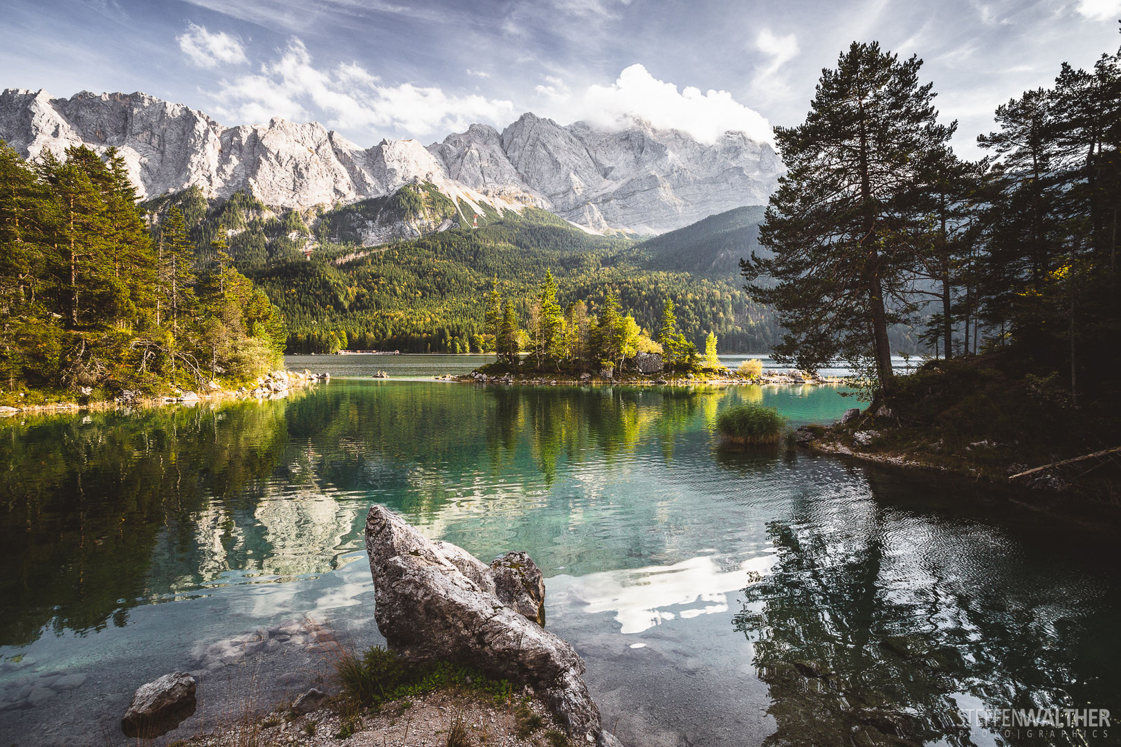
M 921 64 L 854 41 L 836 69 L 822 71 L 806 121 L 775 130 L 789 171 L 759 233 L 773 255 L 741 262 L 748 291 L 787 329 L 779 361 L 810 371 L 837 357 L 871 361 L 881 394 L 892 384 L 888 327 L 910 308 L 919 230 L 910 195 L 925 156 L 954 129 L 937 123 Z

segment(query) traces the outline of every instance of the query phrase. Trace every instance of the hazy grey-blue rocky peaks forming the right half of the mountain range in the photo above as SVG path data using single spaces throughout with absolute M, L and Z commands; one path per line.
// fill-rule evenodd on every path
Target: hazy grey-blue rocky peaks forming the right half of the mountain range
M 766 204 L 782 172 L 775 150 L 742 132 L 726 132 L 710 146 L 640 120 L 605 132 L 527 113 L 501 136 L 475 124 L 428 149 L 453 179 L 487 194 L 529 195 L 599 231 L 661 233 L 733 207 Z

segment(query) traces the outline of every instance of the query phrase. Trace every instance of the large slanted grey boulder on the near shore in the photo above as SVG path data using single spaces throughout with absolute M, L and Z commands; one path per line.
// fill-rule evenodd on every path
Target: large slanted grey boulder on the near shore
M 519 611 L 525 606 L 544 622 L 545 585 L 537 566 L 525 562 L 528 555 L 500 559 L 495 579 L 494 569 L 469 552 L 433 542 L 378 505 L 365 520 L 365 550 L 373 575 L 374 619 L 398 655 L 414 662 L 446 659 L 528 683 L 544 694 L 569 737 L 620 747 L 600 723 L 600 709 L 581 678 L 584 662 L 567 642 Z M 515 579 L 520 591 L 511 583 Z M 503 603 L 495 580 L 519 609 Z M 540 601 L 530 609 L 527 600 L 538 582 Z M 519 592 L 509 594 L 511 589 Z

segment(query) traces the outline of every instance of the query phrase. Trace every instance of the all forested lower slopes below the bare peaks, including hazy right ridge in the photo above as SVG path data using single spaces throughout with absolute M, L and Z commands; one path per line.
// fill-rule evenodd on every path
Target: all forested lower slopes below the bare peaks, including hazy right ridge
M 669 298 L 680 329 L 698 346 L 714 332 L 721 352 L 765 353 L 779 334 L 739 274 L 740 258 L 757 249 L 758 206 L 638 242 L 590 234 L 535 207 L 499 214 L 484 206 L 478 228 L 461 227 L 470 225 L 471 207 L 423 184 L 323 212 L 274 212 L 241 193 L 207 203 L 197 189 L 146 205 L 157 218 L 178 206 L 202 261 L 225 235 L 238 268 L 281 309 L 289 353 L 478 351 L 492 283 L 503 298 L 520 299 L 525 319 L 546 270 L 556 277 L 562 305 L 589 300 L 595 314 L 615 290 L 650 332 Z M 364 235 L 395 225 L 417 228 L 363 245 Z M 425 226 L 430 231 L 419 230 Z M 305 248 L 314 248 L 309 259 Z M 908 330 L 893 338 L 914 352 Z

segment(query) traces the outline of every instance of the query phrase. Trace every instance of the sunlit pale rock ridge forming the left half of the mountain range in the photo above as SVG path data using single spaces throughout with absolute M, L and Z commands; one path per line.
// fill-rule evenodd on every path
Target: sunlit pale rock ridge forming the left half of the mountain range
M 481 198 L 450 180 L 443 165 L 415 140 L 383 140 L 363 150 L 318 122 L 280 118 L 226 128 L 202 112 L 143 93 L 52 99 L 45 91 L 9 88 L 0 94 L 0 138 L 25 158 L 44 150 L 63 156 L 67 147 L 83 143 L 99 152 L 115 147 L 143 197 L 191 186 L 207 197 L 248 189 L 272 207 L 307 208 L 432 181 L 450 196 Z

